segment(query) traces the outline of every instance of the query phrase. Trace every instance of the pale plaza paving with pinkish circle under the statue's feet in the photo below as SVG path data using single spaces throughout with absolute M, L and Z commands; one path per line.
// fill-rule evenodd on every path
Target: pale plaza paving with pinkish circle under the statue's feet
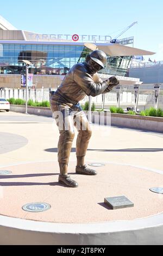
M 0 215 L 75 225 L 135 221 L 162 214 L 163 195 L 149 188 L 163 187 L 163 134 L 95 125 L 92 131 L 86 162 L 105 166 L 95 167 L 97 176 L 77 175 L 75 138 L 69 171 L 79 187 L 68 188 L 58 184 L 55 121 L 0 111 L 0 171 L 12 172 L 0 176 Z M 104 205 L 105 197 L 117 196 L 128 197 L 134 208 L 110 210 Z M 33 202 L 48 203 L 51 209 L 39 213 L 22 210 Z

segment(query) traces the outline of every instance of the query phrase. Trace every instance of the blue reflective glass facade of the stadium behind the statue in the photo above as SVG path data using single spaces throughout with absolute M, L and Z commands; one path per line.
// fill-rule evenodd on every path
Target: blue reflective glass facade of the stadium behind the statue
M 78 62 L 84 62 L 90 51 L 80 45 L 1 44 L 0 74 L 25 74 L 22 60 L 33 63 L 29 72 L 34 75 L 65 75 Z M 131 57 L 108 57 L 108 65 L 101 72 L 126 75 Z

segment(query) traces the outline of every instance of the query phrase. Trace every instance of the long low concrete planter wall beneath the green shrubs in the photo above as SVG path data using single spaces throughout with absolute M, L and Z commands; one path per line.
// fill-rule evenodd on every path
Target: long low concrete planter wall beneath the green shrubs
M 10 105 L 10 110 L 14 112 L 26 112 L 26 106 Z M 88 117 L 88 111 L 84 111 Z M 51 108 L 28 106 L 29 114 L 45 115 L 52 117 Z M 136 129 L 163 132 L 162 117 L 143 117 L 141 115 L 116 114 L 109 112 L 91 112 L 91 122 L 97 125 L 123 126 Z

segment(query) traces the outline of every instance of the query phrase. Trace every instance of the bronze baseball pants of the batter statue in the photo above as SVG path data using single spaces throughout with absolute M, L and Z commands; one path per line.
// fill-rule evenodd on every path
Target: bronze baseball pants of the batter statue
M 51 109 L 60 132 L 58 142 L 58 162 L 69 162 L 72 142 L 75 136 L 74 126 L 78 131 L 76 144 L 77 157 L 85 156 L 92 131 L 80 105 L 72 105 L 70 103 L 58 104 L 51 99 Z

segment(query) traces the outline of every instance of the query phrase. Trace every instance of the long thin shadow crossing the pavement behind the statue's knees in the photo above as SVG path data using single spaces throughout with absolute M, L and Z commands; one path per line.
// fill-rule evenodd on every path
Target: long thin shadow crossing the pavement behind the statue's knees
M 45 149 L 49 153 L 58 153 L 58 148 Z M 87 151 L 99 152 L 160 152 L 163 148 L 133 148 L 133 149 L 87 149 Z M 71 149 L 71 153 L 76 153 L 76 148 Z

